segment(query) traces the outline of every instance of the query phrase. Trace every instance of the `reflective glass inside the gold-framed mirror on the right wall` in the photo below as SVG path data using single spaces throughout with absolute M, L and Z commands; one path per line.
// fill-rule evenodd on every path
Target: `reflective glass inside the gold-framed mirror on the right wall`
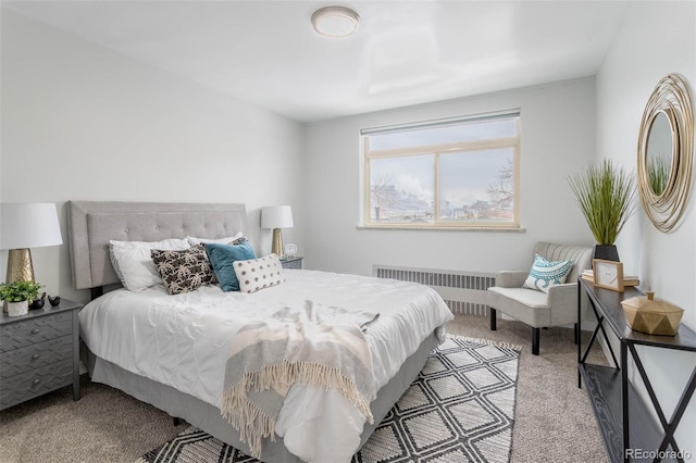
M 672 126 L 663 111 L 657 113 L 648 130 L 647 174 L 650 189 L 661 196 L 670 184 L 674 165 Z

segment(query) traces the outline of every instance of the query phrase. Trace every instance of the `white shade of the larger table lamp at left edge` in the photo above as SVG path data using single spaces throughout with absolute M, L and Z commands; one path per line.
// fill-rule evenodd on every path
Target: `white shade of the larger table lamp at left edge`
M 62 243 L 55 204 L 0 204 L 0 249 L 41 248 Z

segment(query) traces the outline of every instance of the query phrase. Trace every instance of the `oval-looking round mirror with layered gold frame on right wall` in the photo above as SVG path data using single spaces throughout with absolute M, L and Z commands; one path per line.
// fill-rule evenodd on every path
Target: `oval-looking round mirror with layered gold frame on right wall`
M 662 78 L 643 113 L 638 136 L 638 192 L 646 215 L 672 230 L 688 202 L 694 162 L 694 110 L 686 82 Z

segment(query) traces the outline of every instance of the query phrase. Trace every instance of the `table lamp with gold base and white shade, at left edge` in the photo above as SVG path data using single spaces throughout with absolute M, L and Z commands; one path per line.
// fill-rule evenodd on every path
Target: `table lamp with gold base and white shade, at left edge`
M 0 204 L 0 249 L 9 249 L 7 283 L 34 281 L 29 248 L 63 243 L 55 204 Z

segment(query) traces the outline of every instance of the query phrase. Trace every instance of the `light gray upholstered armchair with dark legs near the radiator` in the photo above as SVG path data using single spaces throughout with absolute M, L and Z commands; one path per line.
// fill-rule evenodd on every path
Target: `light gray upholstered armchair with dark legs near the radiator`
M 577 277 L 585 268 L 592 267 L 593 250 L 589 247 L 537 242 L 535 254 L 547 261 L 574 261 L 564 284 L 552 286 L 548 292 L 523 288 L 529 271 L 502 271 L 494 286 L 486 291 L 486 302 L 490 309 L 490 330 L 497 326 L 497 311 L 510 315 L 532 326 L 532 353 L 539 354 L 539 328 L 575 325 L 577 342 Z

